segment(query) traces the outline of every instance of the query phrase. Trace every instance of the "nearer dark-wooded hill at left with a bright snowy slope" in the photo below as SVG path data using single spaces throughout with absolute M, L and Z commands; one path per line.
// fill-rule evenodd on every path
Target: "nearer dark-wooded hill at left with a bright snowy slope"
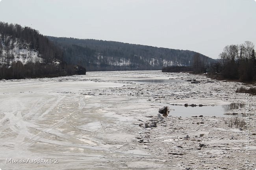
M 0 79 L 56 77 L 77 70 L 63 62 L 63 50 L 39 31 L 0 22 Z

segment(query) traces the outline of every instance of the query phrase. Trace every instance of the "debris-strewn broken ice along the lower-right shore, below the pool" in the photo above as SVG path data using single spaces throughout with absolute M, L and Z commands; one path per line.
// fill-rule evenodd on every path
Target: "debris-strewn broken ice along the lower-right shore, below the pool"
M 167 117 L 139 134 L 139 142 L 177 169 L 254 170 L 256 118 L 245 120 L 247 128 L 230 128 L 230 118 Z

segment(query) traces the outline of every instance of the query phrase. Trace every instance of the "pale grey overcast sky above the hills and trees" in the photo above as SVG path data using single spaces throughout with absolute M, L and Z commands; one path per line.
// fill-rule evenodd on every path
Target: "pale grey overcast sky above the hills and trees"
M 254 0 L 2 0 L 0 21 L 43 35 L 189 49 L 212 58 L 229 44 L 256 44 Z

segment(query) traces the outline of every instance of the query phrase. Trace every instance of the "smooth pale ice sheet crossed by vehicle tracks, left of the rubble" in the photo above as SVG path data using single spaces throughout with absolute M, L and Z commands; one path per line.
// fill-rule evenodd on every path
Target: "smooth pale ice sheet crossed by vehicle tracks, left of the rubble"
M 82 90 L 98 93 L 125 84 L 58 82 L 58 78 L 7 80 L 0 84 L 2 169 L 109 169 L 122 166 L 124 161 L 132 163 L 134 158 L 148 162 L 156 158 L 132 142 L 140 130 L 134 124 L 137 113 L 148 107 L 145 101 L 132 96 L 81 94 Z M 59 163 L 6 163 L 11 158 L 58 159 Z M 129 163 L 124 167 L 132 166 Z M 147 167 L 160 165 L 156 162 Z

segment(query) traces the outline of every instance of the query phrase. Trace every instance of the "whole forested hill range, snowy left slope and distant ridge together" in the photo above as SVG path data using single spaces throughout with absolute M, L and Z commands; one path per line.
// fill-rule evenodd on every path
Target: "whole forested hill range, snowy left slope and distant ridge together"
M 151 70 L 215 62 L 195 51 L 46 37 L 30 27 L 0 22 L 0 79 L 85 74 L 86 70 Z

